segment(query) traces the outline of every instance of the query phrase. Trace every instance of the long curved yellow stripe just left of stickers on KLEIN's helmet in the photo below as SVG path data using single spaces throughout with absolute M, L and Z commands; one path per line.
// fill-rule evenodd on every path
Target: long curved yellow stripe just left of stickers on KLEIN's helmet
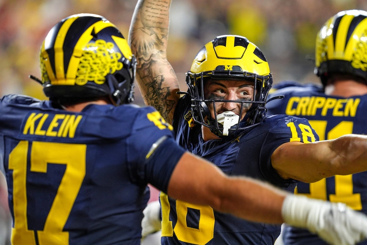
M 74 47 L 74 51 L 72 57 L 70 58 L 68 71 L 66 72 L 66 80 L 68 85 L 75 84 L 76 72 L 78 70 L 78 65 L 80 62 L 81 55 L 83 53 L 82 48 L 87 45 L 87 43 L 92 40 L 93 36 L 91 35 L 92 30 L 94 29 L 95 33 L 100 32 L 102 29 L 107 28 L 109 26 L 116 27 L 109 21 L 98 21 L 91 25 L 79 38 L 78 42 Z M 63 83 L 64 84 L 64 83 Z

